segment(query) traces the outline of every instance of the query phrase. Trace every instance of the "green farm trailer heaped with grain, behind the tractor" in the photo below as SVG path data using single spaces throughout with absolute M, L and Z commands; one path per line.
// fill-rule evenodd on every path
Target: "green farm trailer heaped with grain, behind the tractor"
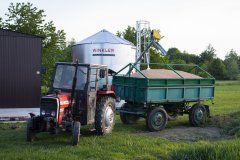
M 159 131 L 165 128 L 168 120 L 189 114 L 192 126 L 204 124 L 210 112 L 203 102 L 214 98 L 214 77 L 197 65 L 151 65 L 159 70 L 153 70 L 150 76 L 147 70 L 140 71 L 131 63 L 113 76 L 115 93 L 125 100 L 117 109 L 121 121 L 131 124 L 141 117 L 146 118 L 148 129 Z M 127 74 L 121 75 L 126 70 Z

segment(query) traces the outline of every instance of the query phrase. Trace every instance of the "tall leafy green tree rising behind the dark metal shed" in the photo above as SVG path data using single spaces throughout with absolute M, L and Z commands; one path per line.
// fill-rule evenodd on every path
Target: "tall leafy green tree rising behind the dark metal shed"
M 47 69 L 43 85 L 49 85 L 55 62 L 65 57 L 64 31 L 57 30 L 52 21 L 45 22 L 44 11 L 31 3 L 11 3 L 6 16 L 3 28 L 43 37 L 42 64 Z

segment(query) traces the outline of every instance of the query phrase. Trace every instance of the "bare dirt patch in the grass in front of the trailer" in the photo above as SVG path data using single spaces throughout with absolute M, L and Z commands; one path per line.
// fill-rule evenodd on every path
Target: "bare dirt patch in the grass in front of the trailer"
M 197 141 L 200 139 L 221 139 L 229 138 L 222 130 L 216 127 L 188 127 L 177 126 L 166 128 L 160 132 L 144 132 L 141 135 L 161 137 L 172 141 Z

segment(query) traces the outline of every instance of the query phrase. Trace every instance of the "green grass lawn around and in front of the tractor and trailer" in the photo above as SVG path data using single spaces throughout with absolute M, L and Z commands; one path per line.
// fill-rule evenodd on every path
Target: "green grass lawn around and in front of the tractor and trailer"
M 96 136 L 85 126 L 81 129 L 79 145 L 73 147 L 70 145 L 71 133 L 41 133 L 36 141 L 28 143 L 25 141 L 25 124 L 0 124 L 0 159 L 239 159 L 239 81 L 217 82 L 214 103 L 210 108 L 211 114 L 220 120 L 209 125 L 221 127 L 226 133 L 231 132 L 233 136 L 229 139 L 185 142 L 144 136 L 139 134 L 147 131 L 144 120 L 136 125 L 123 125 L 117 116 L 111 135 Z M 225 124 L 224 120 L 228 118 L 230 120 Z M 188 126 L 187 120 L 187 116 L 179 117 L 169 122 L 167 128 Z

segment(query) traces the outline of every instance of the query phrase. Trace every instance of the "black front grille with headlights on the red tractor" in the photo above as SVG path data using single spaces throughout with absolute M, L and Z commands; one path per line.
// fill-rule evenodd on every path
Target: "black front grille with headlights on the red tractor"
M 57 117 L 58 108 L 57 98 L 43 97 L 41 99 L 40 115 L 44 117 Z

